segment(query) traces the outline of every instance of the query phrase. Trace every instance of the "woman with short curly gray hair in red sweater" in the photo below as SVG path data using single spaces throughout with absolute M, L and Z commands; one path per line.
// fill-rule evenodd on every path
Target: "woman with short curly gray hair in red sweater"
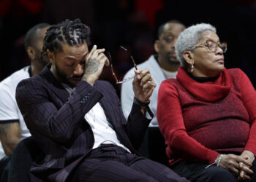
M 256 92 L 246 74 L 226 69 L 216 28 L 180 33 L 177 79 L 159 87 L 157 120 L 173 170 L 190 181 L 256 181 Z

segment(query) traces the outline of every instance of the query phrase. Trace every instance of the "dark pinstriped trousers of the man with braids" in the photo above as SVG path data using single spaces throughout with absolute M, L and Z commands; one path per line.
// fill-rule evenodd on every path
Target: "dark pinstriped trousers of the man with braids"
M 70 177 L 70 181 L 187 181 L 165 165 L 113 144 L 92 150 Z

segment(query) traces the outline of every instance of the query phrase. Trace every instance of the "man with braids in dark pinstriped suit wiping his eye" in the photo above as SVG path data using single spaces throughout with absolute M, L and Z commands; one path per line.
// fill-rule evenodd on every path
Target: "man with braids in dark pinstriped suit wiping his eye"
M 136 153 L 151 121 L 149 71 L 135 71 L 127 121 L 113 86 L 98 80 L 109 61 L 105 49 L 88 50 L 89 36 L 80 20 L 51 26 L 42 49 L 51 64 L 18 84 L 18 106 L 43 153 L 31 181 L 186 181 Z

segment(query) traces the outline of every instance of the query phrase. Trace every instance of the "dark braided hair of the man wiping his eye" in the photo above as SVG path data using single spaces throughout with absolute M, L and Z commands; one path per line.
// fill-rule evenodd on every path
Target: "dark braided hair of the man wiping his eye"
M 69 46 L 78 46 L 90 42 L 90 28 L 81 23 L 80 19 L 74 21 L 65 20 L 57 25 L 51 25 L 45 33 L 45 39 L 42 47 L 41 57 L 46 56 L 46 51 L 62 51 L 61 43 Z

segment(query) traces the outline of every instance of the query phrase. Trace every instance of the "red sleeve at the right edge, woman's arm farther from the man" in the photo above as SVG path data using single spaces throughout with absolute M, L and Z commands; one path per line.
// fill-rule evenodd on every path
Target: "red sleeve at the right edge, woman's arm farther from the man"
M 244 150 L 252 151 L 256 156 L 256 91 L 246 74 L 240 69 L 238 71 L 241 100 L 248 111 L 250 122 L 249 138 Z

